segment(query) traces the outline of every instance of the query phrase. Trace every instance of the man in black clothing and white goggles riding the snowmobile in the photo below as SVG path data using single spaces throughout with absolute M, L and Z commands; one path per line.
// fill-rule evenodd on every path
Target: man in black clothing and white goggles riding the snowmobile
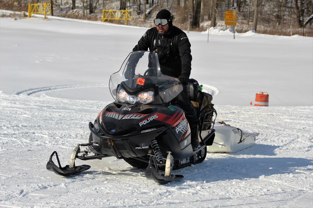
M 193 150 L 200 147 L 197 129 L 198 120 L 194 107 L 188 100 L 187 84 L 191 72 L 191 45 L 185 32 L 173 26 L 174 15 L 163 9 L 156 14 L 153 27 L 138 41 L 133 51 L 153 51 L 158 54 L 161 72 L 178 78 L 183 91 L 178 96 L 177 106 L 184 110 L 191 128 L 191 144 Z

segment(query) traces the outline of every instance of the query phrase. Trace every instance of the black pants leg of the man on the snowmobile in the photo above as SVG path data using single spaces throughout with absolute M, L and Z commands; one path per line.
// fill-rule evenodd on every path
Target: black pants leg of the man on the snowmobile
M 191 139 L 197 136 L 198 119 L 195 112 L 195 108 L 188 99 L 187 85 L 182 85 L 183 90 L 178 95 L 178 102 L 175 105 L 181 108 L 185 112 L 186 119 L 189 123 L 191 130 Z

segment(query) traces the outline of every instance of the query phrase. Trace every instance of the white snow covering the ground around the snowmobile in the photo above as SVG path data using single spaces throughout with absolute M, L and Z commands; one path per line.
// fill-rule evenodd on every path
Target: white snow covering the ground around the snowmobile
M 210 28 L 188 33 L 192 78 L 213 95 L 216 121 L 258 132 L 253 147 L 208 153 L 158 185 L 114 157 L 63 166 L 88 123 L 113 101 L 110 75 L 147 28 L 42 16 L 0 18 L 0 207 L 309 207 L 313 200 L 313 38 Z M 96 23 L 96 24 L 95 24 Z M 269 107 L 254 107 L 258 91 Z

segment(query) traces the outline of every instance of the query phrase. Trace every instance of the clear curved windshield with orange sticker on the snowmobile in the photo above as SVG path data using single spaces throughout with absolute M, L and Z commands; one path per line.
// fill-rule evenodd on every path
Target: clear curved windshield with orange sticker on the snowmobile
M 111 75 L 109 87 L 114 99 L 120 84 L 127 86 L 130 91 L 147 89 L 153 85 L 164 103 L 182 91 L 182 83 L 177 78 L 162 75 L 157 54 L 149 51 L 131 52 L 121 69 Z

